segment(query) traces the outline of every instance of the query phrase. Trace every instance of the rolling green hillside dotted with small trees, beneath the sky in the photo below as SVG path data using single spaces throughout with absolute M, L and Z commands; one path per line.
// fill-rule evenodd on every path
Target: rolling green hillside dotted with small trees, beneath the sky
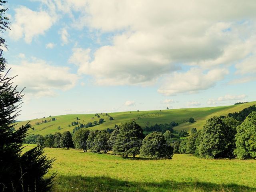
M 256 104 L 256 102 L 249 102 L 240 105 L 232 105 L 232 106 L 220 106 L 220 107 L 207 107 L 207 108 L 188 108 L 188 109 L 172 109 L 172 110 L 154 110 L 154 111 L 131 111 L 131 112 L 116 112 L 116 113 L 109 113 L 110 116 L 114 118 L 114 120 L 110 121 L 108 116 L 100 115 L 100 118 L 104 118 L 105 122 L 89 129 L 95 130 L 102 130 L 106 128 L 114 128 L 115 124 L 121 124 L 121 122 L 126 122 L 129 120 L 135 120 L 140 124 L 140 126 L 145 127 L 146 125 L 154 125 L 160 123 L 170 123 L 172 121 L 178 122 L 179 126 L 175 127 L 176 130 L 183 130 L 186 129 L 190 132 L 190 129 L 195 127 L 197 129 L 201 129 L 205 120 L 212 116 L 220 116 L 220 115 L 227 115 L 230 112 L 239 112 L 242 109 L 252 106 Z M 61 116 L 53 116 L 44 119 L 34 119 L 30 120 L 30 124 L 33 125 L 34 130 L 30 130 L 29 133 L 31 134 L 48 134 L 55 132 L 64 132 L 64 131 L 72 131 L 75 126 L 69 127 L 71 122 L 76 121 L 76 117 L 80 118 L 78 121 L 82 124 L 87 124 L 88 122 L 93 122 L 94 120 L 99 120 L 94 116 L 94 114 L 72 114 L 72 115 L 61 115 Z M 94 117 L 94 119 L 91 119 Z M 194 117 L 196 122 L 188 123 L 184 122 L 190 117 Z M 42 123 L 39 125 L 35 125 L 36 122 L 42 122 L 42 120 L 48 120 L 51 118 L 56 118 L 55 121 Z M 21 125 L 26 124 L 28 121 L 18 122 L 15 128 L 18 128 Z M 58 130 L 58 126 L 61 127 Z

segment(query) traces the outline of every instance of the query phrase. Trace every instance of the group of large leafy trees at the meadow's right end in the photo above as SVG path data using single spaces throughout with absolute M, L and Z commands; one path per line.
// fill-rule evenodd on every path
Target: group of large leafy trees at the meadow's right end
M 200 158 L 256 158 L 256 112 L 242 124 L 232 117 L 212 116 L 202 130 L 180 142 L 178 152 Z

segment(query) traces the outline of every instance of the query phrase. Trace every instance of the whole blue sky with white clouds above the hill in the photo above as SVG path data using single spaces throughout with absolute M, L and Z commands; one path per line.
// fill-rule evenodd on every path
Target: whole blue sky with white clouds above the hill
M 254 0 L 12 0 L 19 120 L 256 100 Z

